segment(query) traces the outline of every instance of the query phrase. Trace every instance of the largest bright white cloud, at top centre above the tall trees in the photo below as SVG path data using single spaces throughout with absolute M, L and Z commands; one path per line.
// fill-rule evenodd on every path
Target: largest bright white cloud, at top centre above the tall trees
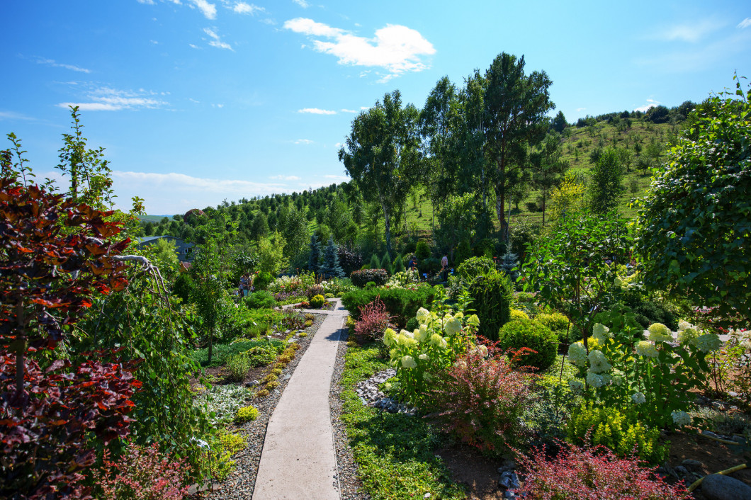
M 436 53 L 433 44 L 420 32 L 406 26 L 389 24 L 377 30 L 374 38 L 352 35 L 344 29 L 303 17 L 286 21 L 284 27 L 311 37 L 314 50 L 336 56 L 340 65 L 384 68 L 389 73 L 381 81 L 409 71 L 423 71 L 428 65 L 422 57 Z

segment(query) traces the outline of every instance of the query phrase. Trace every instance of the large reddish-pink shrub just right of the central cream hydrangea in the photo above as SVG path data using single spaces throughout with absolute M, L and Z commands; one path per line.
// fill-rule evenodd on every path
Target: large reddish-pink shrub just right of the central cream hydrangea
M 487 352 L 474 348 L 441 375 L 428 398 L 438 410 L 428 417 L 472 446 L 502 451 L 520 435 L 532 375 L 511 369 L 497 342 Z

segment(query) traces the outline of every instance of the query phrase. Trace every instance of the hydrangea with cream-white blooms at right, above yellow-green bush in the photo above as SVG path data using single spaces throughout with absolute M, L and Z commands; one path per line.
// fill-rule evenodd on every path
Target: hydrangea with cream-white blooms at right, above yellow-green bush
M 707 354 L 719 337 L 680 321 L 677 340 L 664 324 L 650 325 L 645 337 L 629 312 L 597 315 L 587 345 L 569 347 L 569 361 L 586 380 L 570 383 L 590 400 L 615 408 L 634 408 L 640 420 L 660 428 L 691 422 L 689 391 L 703 387 Z M 606 327 L 605 324 L 610 325 Z

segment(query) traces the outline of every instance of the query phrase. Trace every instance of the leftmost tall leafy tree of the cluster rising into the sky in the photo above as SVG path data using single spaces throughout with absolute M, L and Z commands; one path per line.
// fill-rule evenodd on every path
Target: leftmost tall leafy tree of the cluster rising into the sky
M 352 122 L 339 161 L 366 201 L 379 203 L 384 215 L 386 246 L 391 248 L 391 221 L 419 177 L 421 160 L 418 110 L 402 107 L 398 90 L 386 94 Z

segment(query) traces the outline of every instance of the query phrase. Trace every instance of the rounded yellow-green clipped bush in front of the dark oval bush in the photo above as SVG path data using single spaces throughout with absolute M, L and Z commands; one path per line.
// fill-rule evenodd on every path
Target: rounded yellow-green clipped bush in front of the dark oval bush
M 480 326 L 482 327 L 482 323 Z M 534 366 L 541 372 L 550 368 L 556 360 L 558 338 L 550 328 L 537 321 L 525 319 L 510 321 L 499 330 L 498 340 L 503 349 L 517 351 L 521 348 L 530 348 L 536 351 L 535 354 L 524 356 L 520 363 L 525 366 Z

